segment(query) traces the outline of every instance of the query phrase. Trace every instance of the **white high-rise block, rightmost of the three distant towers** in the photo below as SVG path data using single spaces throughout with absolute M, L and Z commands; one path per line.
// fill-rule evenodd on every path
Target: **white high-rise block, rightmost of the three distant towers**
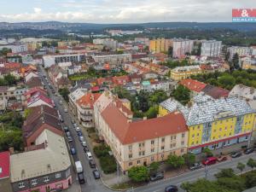
M 211 40 L 201 43 L 201 55 L 218 57 L 221 53 L 221 41 Z

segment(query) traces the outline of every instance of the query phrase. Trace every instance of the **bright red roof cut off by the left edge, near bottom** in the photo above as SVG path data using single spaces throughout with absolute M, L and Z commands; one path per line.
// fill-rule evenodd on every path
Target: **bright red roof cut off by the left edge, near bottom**
M 9 177 L 9 151 L 0 153 L 0 179 Z

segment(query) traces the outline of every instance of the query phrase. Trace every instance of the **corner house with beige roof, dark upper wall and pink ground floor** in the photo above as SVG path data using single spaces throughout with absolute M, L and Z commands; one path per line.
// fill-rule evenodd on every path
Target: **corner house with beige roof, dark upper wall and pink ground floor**
M 72 164 L 64 137 L 45 129 L 35 146 L 10 156 L 14 192 L 47 192 L 68 189 L 72 184 Z

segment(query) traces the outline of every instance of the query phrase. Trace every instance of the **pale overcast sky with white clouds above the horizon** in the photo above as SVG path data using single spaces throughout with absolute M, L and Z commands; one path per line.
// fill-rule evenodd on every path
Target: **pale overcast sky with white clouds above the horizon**
M 231 21 L 233 8 L 255 9 L 256 0 L 0 0 L 0 21 Z

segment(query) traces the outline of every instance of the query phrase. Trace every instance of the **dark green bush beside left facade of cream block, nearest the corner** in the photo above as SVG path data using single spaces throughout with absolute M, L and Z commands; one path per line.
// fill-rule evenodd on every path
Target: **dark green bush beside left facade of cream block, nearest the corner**
M 102 166 L 102 171 L 106 174 L 113 173 L 116 171 L 116 161 L 113 156 L 110 156 L 109 154 L 106 156 L 102 156 L 100 158 L 100 163 Z

